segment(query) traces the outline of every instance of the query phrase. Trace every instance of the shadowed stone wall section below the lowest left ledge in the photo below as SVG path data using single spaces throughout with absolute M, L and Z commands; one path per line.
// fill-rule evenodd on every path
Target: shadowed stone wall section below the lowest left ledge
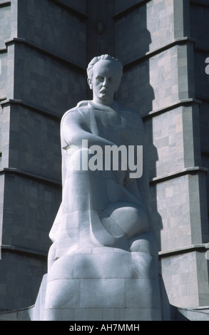
M 43 257 L 36 259 L 26 252 L 1 249 L 0 299 L 1 310 L 31 306 L 39 290 L 40 278 L 46 272 Z M 3 271 L 4 269 L 4 271 Z M 14 299 L 15 297 L 15 299 Z

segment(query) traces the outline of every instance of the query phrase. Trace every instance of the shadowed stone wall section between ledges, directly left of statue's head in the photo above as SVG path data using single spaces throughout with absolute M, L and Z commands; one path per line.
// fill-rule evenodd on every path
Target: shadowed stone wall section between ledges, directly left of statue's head
M 16 63 L 19 66 L 16 67 L 14 81 L 9 80 L 15 87 L 14 96 L 12 92 L 9 97 L 24 100 L 36 108 L 43 108 L 60 116 L 81 100 L 81 97 L 85 99 L 85 73 L 24 44 L 17 44 L 15 48 Z

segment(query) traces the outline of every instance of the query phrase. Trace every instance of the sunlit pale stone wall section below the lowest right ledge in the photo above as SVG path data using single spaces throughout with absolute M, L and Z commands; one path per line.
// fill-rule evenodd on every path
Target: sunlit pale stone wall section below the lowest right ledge
M 173 306 L 208 306 L 208 273 L 205 267 L 204 252 L 190 252 L 162 260 L 165 289 L 169 293 Z M 204 293 L 202 293 L 204 292 Z

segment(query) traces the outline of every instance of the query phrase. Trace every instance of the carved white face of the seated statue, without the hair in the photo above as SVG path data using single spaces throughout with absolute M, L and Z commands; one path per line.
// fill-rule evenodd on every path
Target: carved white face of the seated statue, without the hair
M 116 64 L 108 60 L 98 61 L 93 66 L 92 79 L 88 78 L 88 84 L 93 90 L 93 101 L 110 105 L 120 83 L 121 75 Z

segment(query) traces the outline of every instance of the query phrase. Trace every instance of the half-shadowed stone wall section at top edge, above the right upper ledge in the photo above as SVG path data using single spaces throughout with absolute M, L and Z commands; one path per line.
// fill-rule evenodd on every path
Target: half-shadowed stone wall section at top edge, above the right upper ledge
M 127 5 L 131 6 L 131 1 Z M 118 6 L 116 2 L 116 11 L 120 7 L 126 9 L 123 3 Z M 123 63 L 128 63 L 164 46 L 174 38 L 173 23 L 173 0 L 148 1 L 136 7 L 116 21 L 116 54 Z

